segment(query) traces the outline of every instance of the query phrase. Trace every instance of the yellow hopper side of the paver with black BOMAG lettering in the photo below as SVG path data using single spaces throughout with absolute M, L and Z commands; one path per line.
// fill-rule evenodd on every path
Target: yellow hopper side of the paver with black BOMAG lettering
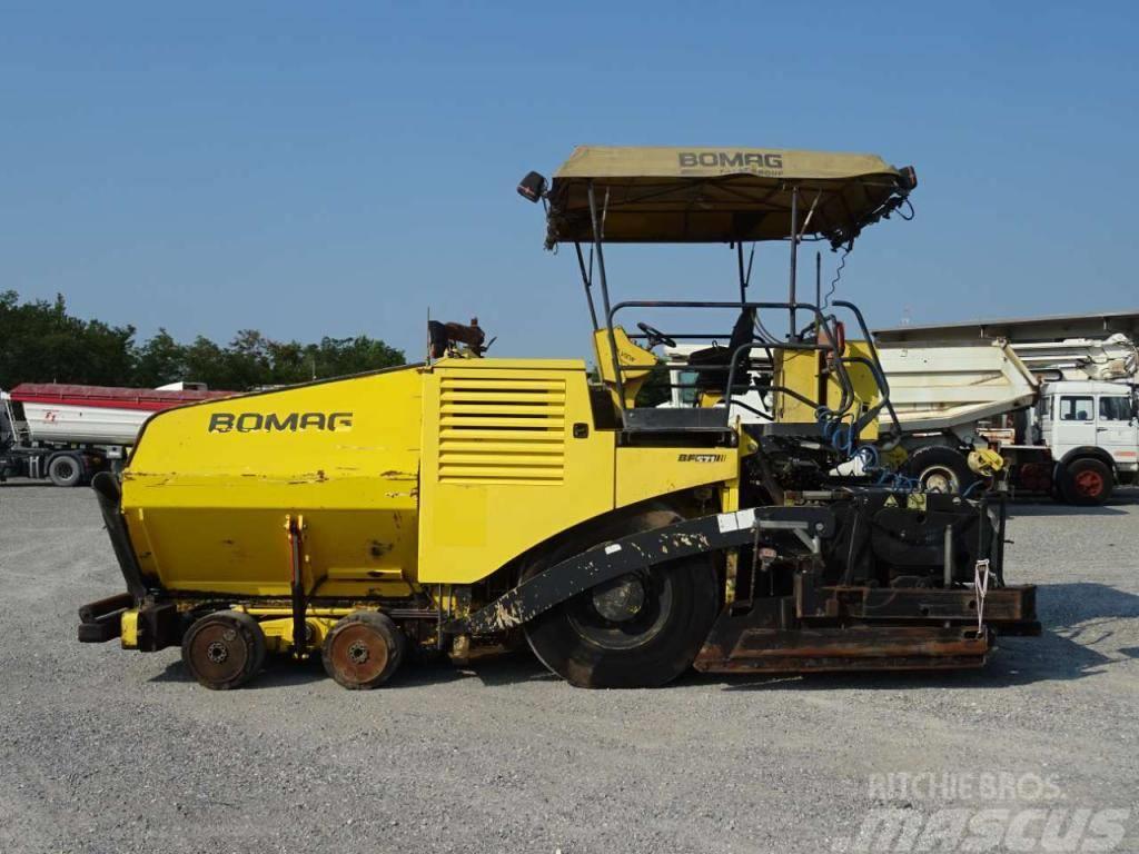
M 420 388 L 403 368 L 155 416 L 123 475 L 142 572 L 170 590 L 288 596 L 285 519 L 303 514 L 312 594 L 405 594 Z

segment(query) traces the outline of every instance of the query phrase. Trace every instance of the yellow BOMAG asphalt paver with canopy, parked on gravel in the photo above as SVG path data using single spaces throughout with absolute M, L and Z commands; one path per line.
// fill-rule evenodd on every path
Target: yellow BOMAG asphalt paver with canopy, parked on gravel
M 887 389 L 857 306 L 796 293 L 802 241 L 849 249 L 916 186 L 877 156 L 754 148 L 587 146 L 528 173 L 547 248 L 579 262 L 596 373 L 436 323 L 420 364 L 153 417 L 93 483 L 126 590 L 80 610 L 80 640 L 180 647 L 212 689 L 268 654 L 369 689 L 514 642 L 587 688 L 981 666 L 998 632 L 1040 627 L 1035 589 L 1005 580 L 1003 503 L 833 474 L 888 442 Z M 606 249 L 661 243 L 735 247 L 738 296 L 613 301 Z M 787 298 L 749 296 L 745 243 L 789 246 Z M 720 322 L 702 405 L 640 404 L 655 352 Z M 745 426 L 715 404 L 753 346 L 779 416 Z

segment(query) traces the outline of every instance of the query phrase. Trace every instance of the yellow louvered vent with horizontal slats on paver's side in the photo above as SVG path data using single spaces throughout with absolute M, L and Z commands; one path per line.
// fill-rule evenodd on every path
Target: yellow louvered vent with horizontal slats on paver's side
M 562 483 L 564 380 L 443 377 L 440 408 L 440 483 Z

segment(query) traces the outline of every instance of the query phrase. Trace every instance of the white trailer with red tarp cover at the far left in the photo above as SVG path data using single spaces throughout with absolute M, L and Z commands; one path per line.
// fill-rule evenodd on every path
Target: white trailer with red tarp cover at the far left
M 155 412 L 226 396 L 200 383 L 162 388 L 24 383 L 0 392 L 0 482 L 47 478 L 77 486 L 113 469 Z

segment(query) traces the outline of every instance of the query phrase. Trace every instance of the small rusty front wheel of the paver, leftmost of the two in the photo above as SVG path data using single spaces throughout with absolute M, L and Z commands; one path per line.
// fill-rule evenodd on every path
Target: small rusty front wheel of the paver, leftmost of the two
M 198 683 L 211 690 L 240 688 L 265 663 L 265 633 L 248 614 L 207 614 L 182 638 L 182 662 Z

